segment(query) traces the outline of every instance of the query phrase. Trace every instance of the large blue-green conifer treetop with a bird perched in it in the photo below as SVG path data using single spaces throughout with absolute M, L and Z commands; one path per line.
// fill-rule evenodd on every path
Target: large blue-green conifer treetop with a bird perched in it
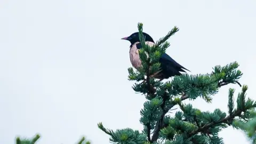
M 128 71 L 129 80 L 137 82 L 133 85 L 133 90 L 144 94 L 147 99 L 144 108 L 140 111 L 140 123 L 143 124 L 144 129 L 142 132 L 130 128 L 113 131 L 99 123 L 98 127 L 110 135 L 110 142 L 123 144 L 223 143 L 218 133 L 228 126 L 237 129 L 243 128 L 245 131 L 255 133 L 255 121 L 252 119 L 253 114 L 250 113 L 250 110 L 256 107 L 256 102 L 245 98 L 248 87 L 242 86 L 238 82 L 243 74 L 237 69 L 239 66 L 237 62 L 231 62 L 226 66 L 215 66 L 210 74 L 183 74 L 175 76 L 172 81 L 160 82 L 150 76 L 159 70 L 158 60 L 170 46 L 166 40 L 177 33 L 179 29 L 174 27 L 154 46 L 149 46 L 145 44 L 142 26 L 142 23 L 138 24 L 142 44 L 142 49 L 139 50 L 142 67 L 136 71 L 129 68 Z M 236 100 L 234 100 L 235 90 L 229 89 L 227 93 L 228 114 L 220 109 L 215 109 L 213 112 L 199 110 L 182 102 L 186 99 L 195 100 L 197 98 L 211 102 L 213 95 L 217 94 L 222 86 L 228 84 L 238 84 L 242 87 Z M 234 106 L 235 102 L 237 103 L 236 107 Z M 173 117 L 167 115 L 175 105 L 179 106 L 180 111 Z M 242 126 L 250 119 L 250 122 L 254 123 L 252 130 Z M 254 138 L 255 135 L 251 137 Z

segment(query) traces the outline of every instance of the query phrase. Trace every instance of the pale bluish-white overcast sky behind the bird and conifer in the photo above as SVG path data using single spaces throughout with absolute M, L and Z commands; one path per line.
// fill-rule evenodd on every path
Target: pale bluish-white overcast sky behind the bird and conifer
M 137 23 L 155 40 L 174 26 L 167 53 L 190 74 L 237 61 L 255 98 L 256 2 L 251 1 L 0 1 L 0 143 L 17 135 L 38 143 L 74 143 L 82 135 L 109 143 L 109 129 L 142 130 L 143 95 L 127 81 L 129 42 Z M 227 111 L 228 88 L 202 110 Z M 187 101 L 189 102 L 189 101 Z M 243 133 L 220 132 L 225 143 L 246 143 Z M 248 142 L 247 142 L 248 143 Z

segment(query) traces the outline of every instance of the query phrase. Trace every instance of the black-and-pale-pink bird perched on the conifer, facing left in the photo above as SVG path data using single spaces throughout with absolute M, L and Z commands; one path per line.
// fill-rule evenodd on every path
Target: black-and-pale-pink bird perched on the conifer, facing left
M 147 33 L 142 32 L 143 37 L 145 37 L 145 43 L 149 46 L 153 46 L 155 44 L 154 39 Z M 139 32 L 133 33 L 128 37 L 123 37 L 121 39 L 124 39 L 126 41 L 129 41 L 131 43 L 130 45 L 130 61 L 132 63 L 132 66 L 135 69 L 139 69 L 141 67 L 141 60 L 139 56 L 139 49 L 142 48 L 142 45 L 140 43 L 139 38 Z M 186 69 L 185 67 L 181 66 L 178 62 L 173 60 L 168 54 L 163 53 L 161 57 L 159 58 L 160 65 L 160 71 L 153 74 L 152 77 L 159 79 L 159 81 L 162 81 L 163 79 L 167 79 L 173 76 L 180 76 L 182 75 L 180 72 L 185 72 L 185 70 L 190 71 Z

